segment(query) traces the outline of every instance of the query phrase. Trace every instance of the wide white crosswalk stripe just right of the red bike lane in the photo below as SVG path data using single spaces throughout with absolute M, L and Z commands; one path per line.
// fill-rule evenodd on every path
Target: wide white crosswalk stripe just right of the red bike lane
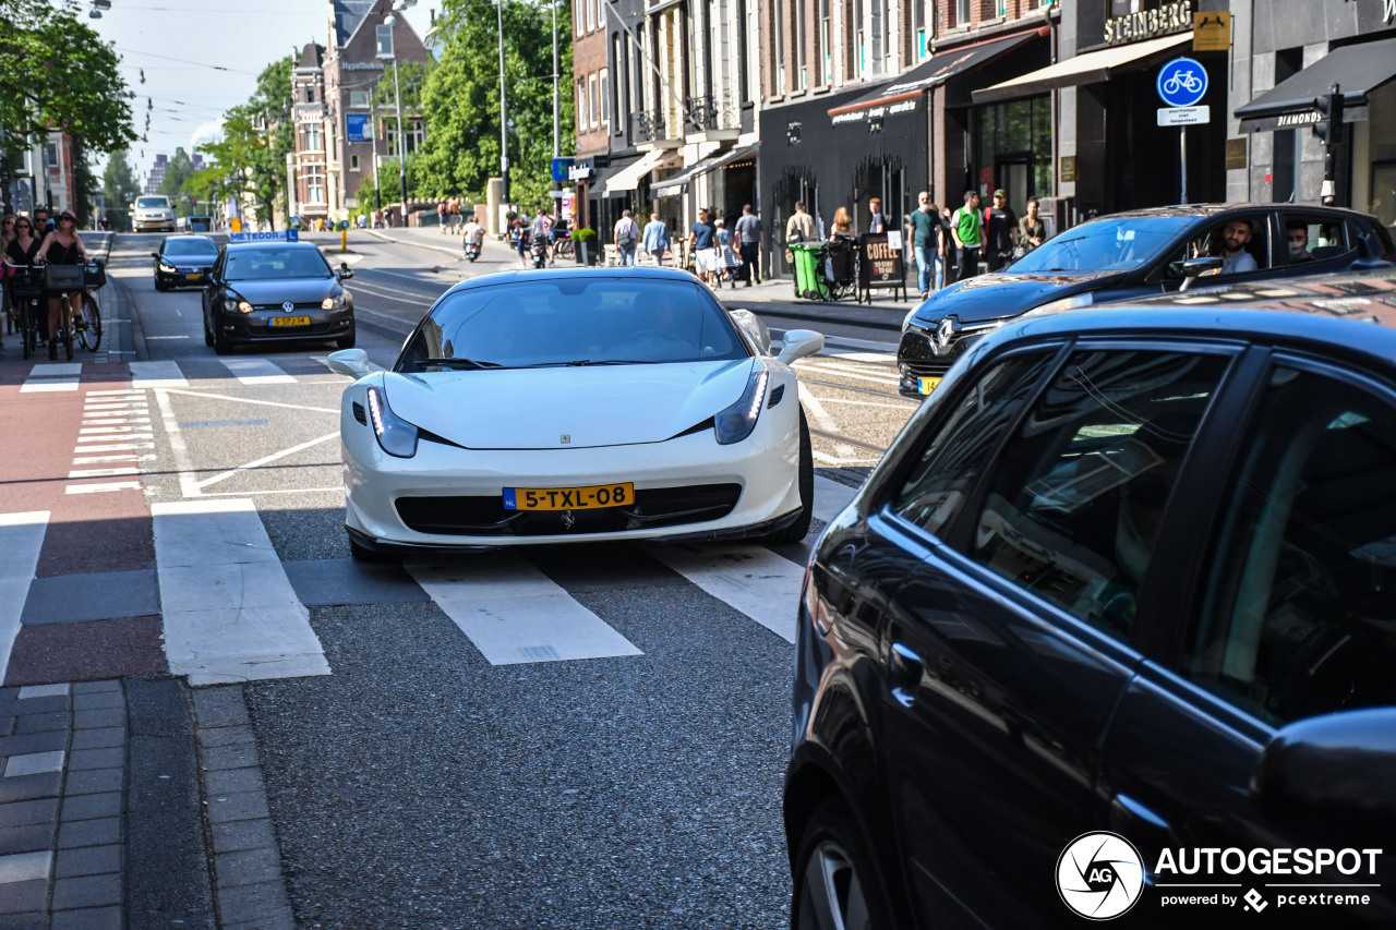
M 193 686 L 329 674 L 251 500 L 154 504 L 172 674 Z

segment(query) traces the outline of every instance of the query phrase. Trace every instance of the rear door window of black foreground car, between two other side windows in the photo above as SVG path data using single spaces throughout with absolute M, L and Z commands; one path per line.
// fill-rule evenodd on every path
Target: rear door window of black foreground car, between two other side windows
M 1168 496 L 1228 362 L 1072 355 L 1004 448 L 969 556 L 1128 642 Z

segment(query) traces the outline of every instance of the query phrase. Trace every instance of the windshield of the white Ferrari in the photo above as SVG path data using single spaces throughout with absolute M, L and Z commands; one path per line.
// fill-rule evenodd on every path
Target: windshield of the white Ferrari
M 748 355 L 732 318 L 697 282 L 539 275 L 443 297 L 395 370 L 652 364 Z

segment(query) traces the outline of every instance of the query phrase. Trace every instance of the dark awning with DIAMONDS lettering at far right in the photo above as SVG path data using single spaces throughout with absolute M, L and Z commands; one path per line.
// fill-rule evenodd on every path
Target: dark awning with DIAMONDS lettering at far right
M 1335 84 L 1343 92 L 1343 121 L 1367 119 L 1367 95 L 1396 77 L 1396 39 L 1344 45 L 1280 81 L 1237 109 L 1242 133 L 1261 133 L 1294 126 L 1311 126 L 1323 119 L 1314 98 Z

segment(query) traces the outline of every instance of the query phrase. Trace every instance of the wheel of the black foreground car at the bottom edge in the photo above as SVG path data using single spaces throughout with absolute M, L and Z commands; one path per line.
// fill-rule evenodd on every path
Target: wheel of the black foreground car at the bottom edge
M 796 859 L 792 930 L 882 930 L 892 913 L 853 815 L 836 797 L 814 809 Z

